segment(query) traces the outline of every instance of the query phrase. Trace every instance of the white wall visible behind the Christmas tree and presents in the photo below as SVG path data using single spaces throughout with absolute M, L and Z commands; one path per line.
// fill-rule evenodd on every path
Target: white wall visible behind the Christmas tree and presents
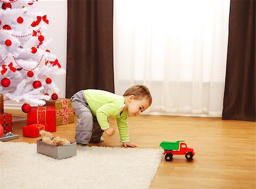
M 45 30 L 45 39 L 52 38 L 49 50 L 56 55 L 62 68 L 67 68 L 67 1 L 68 0 L 40 0 L 38 1 L 38 11 L 47 15 L 49 24 Z M 66 75 L 56 75 L 53 79 L 59 87 L 58 96 L 65 98 Z M 16 103 L 10 100 L 5 101 L 5 109 L 19 109 L 24 102 Z

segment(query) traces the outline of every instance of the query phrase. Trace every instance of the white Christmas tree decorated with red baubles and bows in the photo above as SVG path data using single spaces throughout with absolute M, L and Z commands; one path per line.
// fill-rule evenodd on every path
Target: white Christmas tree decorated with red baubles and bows
M 0 0 L 0 94 L 4 100 L 43 106 L 52 96 L 57 99 L 55 75 L 65 74 L 44 40 L 47 15 L 35 12 L 38 0 Z

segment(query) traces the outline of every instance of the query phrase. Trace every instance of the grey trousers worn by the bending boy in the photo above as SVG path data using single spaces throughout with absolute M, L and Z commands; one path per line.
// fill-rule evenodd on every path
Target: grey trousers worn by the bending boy
M 84 97 L 84 91 L 79 91 L 71 97 L 72 107 L 77 115 L 75 140 L 80 144 L 100 142 L 103 130 L 97 117 L 92 114 Z

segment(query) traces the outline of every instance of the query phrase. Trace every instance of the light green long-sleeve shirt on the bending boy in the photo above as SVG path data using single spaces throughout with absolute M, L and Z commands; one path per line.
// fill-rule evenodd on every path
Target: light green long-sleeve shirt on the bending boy
M 90 111 L 97 117 L 101 129 L 110 127 L 108 117 L 116 117 L 121 142 L 129 142 L 128 113 L 125 111 L 121 114 L 125 107 L 125 97 L 96 89 L 84 90 L 84 96 Z

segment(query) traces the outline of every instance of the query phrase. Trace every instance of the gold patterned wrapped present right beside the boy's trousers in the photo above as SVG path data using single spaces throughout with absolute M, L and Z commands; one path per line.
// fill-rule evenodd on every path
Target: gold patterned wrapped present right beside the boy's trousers
M 48 100 L 46 106 L 55 106 L 56 126 L 74 123 L 75 115 L 70 99 L 59 98 L 57 100 Z

